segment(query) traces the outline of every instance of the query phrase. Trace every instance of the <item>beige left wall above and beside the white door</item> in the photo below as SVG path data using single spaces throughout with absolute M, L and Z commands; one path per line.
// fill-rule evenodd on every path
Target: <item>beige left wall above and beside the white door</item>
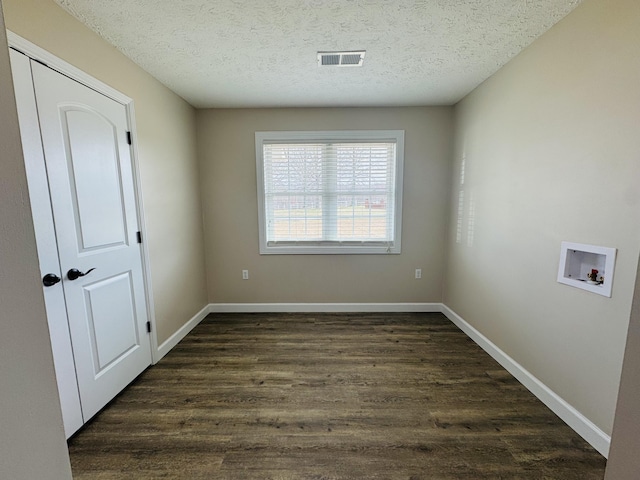
M 133 98 L 161 343 L 207 303 L 195 110 L 52 0 L 4 0 L 7 28 Z

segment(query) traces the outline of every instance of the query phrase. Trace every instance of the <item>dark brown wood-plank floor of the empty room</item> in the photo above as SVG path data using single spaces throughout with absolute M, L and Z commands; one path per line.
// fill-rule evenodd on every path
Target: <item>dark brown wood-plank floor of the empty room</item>
M 76 479 L 602 479 L 440 314 L 215 314 L 69 441 Z

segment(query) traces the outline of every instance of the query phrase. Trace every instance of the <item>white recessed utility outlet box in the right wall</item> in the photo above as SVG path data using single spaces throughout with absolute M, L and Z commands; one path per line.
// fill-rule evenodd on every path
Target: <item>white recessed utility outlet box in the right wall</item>
M 616 249 L 562 242 L 558 282 L 611 297 Z

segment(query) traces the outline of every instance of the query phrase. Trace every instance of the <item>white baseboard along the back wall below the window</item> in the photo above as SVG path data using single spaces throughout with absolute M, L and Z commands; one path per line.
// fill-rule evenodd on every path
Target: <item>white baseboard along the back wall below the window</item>
M 441 312 L 441 303 L 211 303 L 211 313 Z

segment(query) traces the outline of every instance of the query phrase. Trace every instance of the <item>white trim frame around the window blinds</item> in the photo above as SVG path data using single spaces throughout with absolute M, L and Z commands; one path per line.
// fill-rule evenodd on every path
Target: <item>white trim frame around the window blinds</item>
M 264 144 L 269 143 L 393 142 L 396 144 L 395 213 L 393 241 L 388 242 L 267 242 L 264 188 Z M 258 195 L 258 232 L 261 255 L 400 254 L 402 246 L 402 187 L 404 183 L 404 130 L 331 130 L 255 132 Z

